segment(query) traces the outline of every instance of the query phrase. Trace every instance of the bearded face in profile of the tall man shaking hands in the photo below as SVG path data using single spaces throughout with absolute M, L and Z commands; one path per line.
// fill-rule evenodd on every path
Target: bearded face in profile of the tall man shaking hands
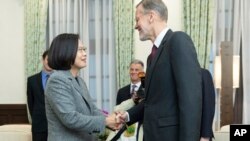
M 135 20 L 136 20 L 136 25 L 135 29 L 138 30 L 140 40 L 141 41 L 146 41 L 150 39 L 150 15 L 149 14 L 144 14 L 143 13 L 143 7 L 139 5 L 136 8 L 136 13 L 135 13 Z

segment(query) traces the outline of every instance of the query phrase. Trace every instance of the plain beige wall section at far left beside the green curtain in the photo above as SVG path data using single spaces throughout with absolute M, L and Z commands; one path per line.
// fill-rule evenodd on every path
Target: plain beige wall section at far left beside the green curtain
M 26 103 L 24 0 L 0 0 L 0 104 Z

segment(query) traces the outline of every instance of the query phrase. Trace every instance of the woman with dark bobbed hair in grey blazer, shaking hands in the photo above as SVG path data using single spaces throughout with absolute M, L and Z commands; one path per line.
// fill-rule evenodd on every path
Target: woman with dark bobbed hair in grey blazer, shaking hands
M 49 66 L 54 70 L 45 89 L 48 141 L 93 141 L 105 127 L 118 129 L 116 115 L 107 117 L 93 103 L 78 76 L 87 65 L 86 47 L 77 34 L 60 34 L 50 46 Z

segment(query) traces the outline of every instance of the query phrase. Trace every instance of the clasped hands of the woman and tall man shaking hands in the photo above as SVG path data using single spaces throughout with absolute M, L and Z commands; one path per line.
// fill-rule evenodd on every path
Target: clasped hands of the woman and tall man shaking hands
M 105 123 L 111 130 L 119 130 L 128 121 L 128 115 L 125 111 L 116 111 L 106 117 Z

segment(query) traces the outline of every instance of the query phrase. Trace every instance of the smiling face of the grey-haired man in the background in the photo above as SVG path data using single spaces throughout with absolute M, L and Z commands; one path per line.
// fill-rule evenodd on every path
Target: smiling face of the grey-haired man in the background
M 138 76 L 139 72 L 143 71 L 143 67 L 141 64 L 131 64 L 129 69 L 130 80 L 131 82 L 139 82 L 141 79 Z

